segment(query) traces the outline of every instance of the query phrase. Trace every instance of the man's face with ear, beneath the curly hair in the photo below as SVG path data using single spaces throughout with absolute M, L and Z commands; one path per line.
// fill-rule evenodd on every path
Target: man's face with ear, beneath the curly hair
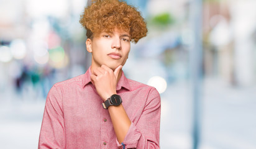
M 92 54 L 92 69 L 104 64 L 115 70 L 126 63 L 130 52 L 130 34 L 117 29 L 112 33 L 101 32 L 93 40 L 86 40 L 86 48 Z

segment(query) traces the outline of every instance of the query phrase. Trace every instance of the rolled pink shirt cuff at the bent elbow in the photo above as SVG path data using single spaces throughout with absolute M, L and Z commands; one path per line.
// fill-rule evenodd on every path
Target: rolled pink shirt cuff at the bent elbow
M 141 133 L 137 130 L 134 123 L 130 124 L 130 128 L 124 138 L 124 141 L 120 144 L 116 139 L 117 147 L 119 148 L 137 148 L 138 141 L 141 137 Z

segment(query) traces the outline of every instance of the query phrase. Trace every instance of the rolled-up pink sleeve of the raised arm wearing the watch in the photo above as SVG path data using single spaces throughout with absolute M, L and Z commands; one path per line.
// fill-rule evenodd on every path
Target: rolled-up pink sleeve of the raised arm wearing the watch
M 160 112 L 161 100 L 158 91 L 153 88 L 149 93 L 144 111 L 137 124 L 130 125 L 130 128 L 120 144 L 119 148 L 160 148 Z

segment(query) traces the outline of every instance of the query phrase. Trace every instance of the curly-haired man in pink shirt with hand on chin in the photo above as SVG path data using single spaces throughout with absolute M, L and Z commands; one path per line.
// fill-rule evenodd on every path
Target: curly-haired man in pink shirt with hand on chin
M 126 2 L 104 0 L 80 23 L 91 66 L 50 89 L 39 148 L 160 148 L 160 96 L 122 72 L 130 42 L 147 34 L 144 19 Z

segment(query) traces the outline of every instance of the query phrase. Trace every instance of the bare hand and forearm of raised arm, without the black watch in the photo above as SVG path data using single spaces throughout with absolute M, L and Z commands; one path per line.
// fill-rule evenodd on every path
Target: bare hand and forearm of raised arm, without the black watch
M 96 68 L 92 71 L 91 80 L 103 101 L 106 101 L 108 97 L 116 93 L 117 80 L 121 75 L 122 66 L 118 66 L 115 71 L 112 71 L 106 65 L 102 65 L 100 68 Z M 130 119 L 124 110 L 124 107 L 119 105 L 118 107 L 110 106 L 108 108 L 109 115 L 112 120 L 114 131 L 119 143 L 122 143 L 126 133 L 130 127 Z

